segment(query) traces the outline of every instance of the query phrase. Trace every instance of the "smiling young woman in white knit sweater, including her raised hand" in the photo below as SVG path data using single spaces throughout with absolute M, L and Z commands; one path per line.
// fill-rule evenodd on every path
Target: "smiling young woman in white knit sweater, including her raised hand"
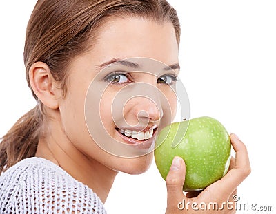
M 163 0 L 37 1 L 24 50 L 26 77 L 37 106 L 0 143 L 0 213 L 106 213 L 103 204 L 117 173 L 144 173 L 153 154 L 141 155 L 145 147 L 140 145 L 151 147 L 165 116 L 175 115 L 172 88 L 179 68 L 179 38 L 177 14 Z M 141 64 L 135 63 L 137 57 L 144 59 Z M 132 72 L 149 59 L 168 66 L 161 73 Z M 112 67 L 118 64 L 124 70 Z M 119 120 L 127 125 L 119 127 L 112 99 L 133 83 L 157 88 L 170 108 L 135 97 L 121 109 L 124 118 Z M 88 93 L 91 84 L 104 90 Z M 101 124 L 87 120 L 87 99 L 93 105 L 93 96 L 99 109 L 90 110 L 100 115 L 106 130 L 99 133 L 102 142 L 90 134 Z M 146 125 L 139 125 L 141 121 Z M 129 131 L 142 132 L 142 137 L 130 136 Z M 175 157 L 166 178 L 166 213 L 190 213 L 177 207 L 183 199 L 231 201 L 250 173 L 250 164 L 244 144 L 234 134 L 230 137 L 236 151 L 230 171 L 200 194 L 184 195 L 185 163 Z M 102 149 L 109 138 L 135 147 L 137 156 L 126 158 Z M 107 143 L 114 147 L 112 141 Z

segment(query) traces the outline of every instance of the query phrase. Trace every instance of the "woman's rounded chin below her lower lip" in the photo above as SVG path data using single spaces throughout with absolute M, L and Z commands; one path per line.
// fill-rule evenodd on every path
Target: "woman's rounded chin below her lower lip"
M 119 171 L 130 175 L 139 175 L 145 173 L 152 163 L 153 152 L 139 158 L 122 158 L 118 167 Z

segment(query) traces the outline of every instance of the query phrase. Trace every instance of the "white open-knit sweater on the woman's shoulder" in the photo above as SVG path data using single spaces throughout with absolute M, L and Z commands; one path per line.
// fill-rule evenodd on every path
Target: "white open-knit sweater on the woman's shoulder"
M 0 176 L 2 213 L 106 213 L 85 184 L 43 158 L 26 158 Z

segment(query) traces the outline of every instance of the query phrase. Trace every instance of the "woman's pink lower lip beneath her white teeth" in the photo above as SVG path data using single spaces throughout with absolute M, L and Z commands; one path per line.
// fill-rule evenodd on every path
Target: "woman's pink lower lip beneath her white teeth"
M 124 140 L 124 143 L 128 145 L 135 145 L 139 149 L 149 149 L 155 142 L 155 135 L 157 132 L 157 128 L 153 129 L 153 135 L 148 140 L 137 140 L 135 138 L 129 138 L 127 136 L 124 136 L 122 133 L 120 133 L 118 129 L 116 129 L 116 131 L 118 135 L 121 137 L 121 139 Z

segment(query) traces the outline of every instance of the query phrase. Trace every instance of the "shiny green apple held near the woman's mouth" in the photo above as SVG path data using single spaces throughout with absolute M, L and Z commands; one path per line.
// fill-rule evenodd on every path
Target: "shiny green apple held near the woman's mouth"
M 230 150 L 230 136 L 224 126 L 204 116 L 164 127 L 155 142 L 155 163 L 166 180 L 172 159 L 183 158 L 186 163 L 183 190 L 201 190 L 227 173 Z

